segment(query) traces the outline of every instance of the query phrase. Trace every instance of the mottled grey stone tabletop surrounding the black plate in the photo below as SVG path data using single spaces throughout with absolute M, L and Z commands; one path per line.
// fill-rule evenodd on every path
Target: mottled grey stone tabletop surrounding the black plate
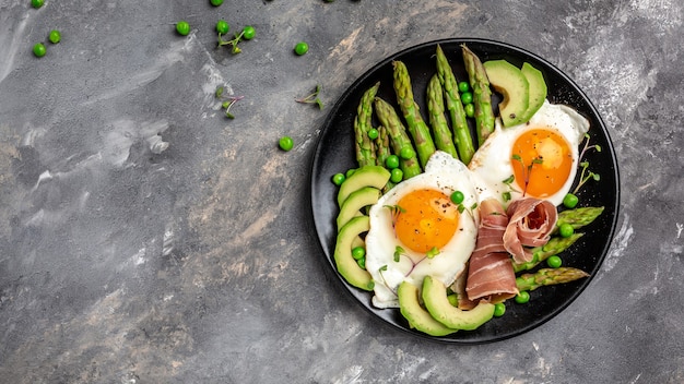
M 0 382 L 683 383 L 683 9 L 0 0 Z M 257 28 L 243 53 L 215 49 L 222 17 Z M 34 58 L 50 28 L 62 41 Z M 588 289 L 482 346 L 381 326 L 328 280 L 307 225 L 327 115 L 293 101 L 322 84 L 331 106 L 385 57 L 447 37 L 514 44 L 566 72 L 608 124 L 623 180 Z M 245 96 L 235 120 L 219 84 Z

